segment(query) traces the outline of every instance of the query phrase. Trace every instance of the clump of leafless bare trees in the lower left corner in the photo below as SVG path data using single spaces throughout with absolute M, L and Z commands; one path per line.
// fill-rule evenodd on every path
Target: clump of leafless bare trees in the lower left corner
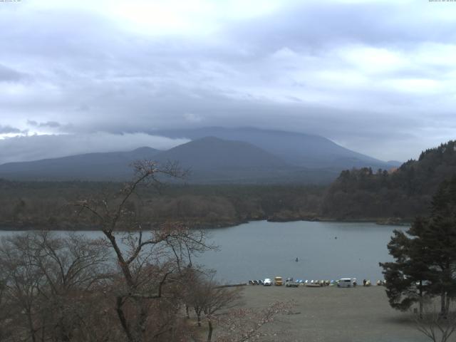
M 76 336 L 93 313 L 88 299 L 108 278 L 107 261 L 106 249 L 82 235 L 33 232 L 2 239 L 1 305 L 9 313 L 4 328 L 16 336 L 11 338 L 90 341 Z

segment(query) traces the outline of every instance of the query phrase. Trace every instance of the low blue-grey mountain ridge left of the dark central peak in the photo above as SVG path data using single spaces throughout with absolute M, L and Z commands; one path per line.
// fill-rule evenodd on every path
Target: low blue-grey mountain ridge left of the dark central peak
M 159 150 L 140 147 L 129 152 L 100 152 L 0 165 L 0 177 L 14 180 L 125 180 L 131 162 L 154 159 Z

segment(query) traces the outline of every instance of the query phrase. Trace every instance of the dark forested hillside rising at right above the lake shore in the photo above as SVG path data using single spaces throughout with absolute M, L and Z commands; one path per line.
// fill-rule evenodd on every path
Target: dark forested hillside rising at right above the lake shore
M 338 219 L 427 214 L 437 186 L 455 174 L 455 141 L 425 150 L 397 170 L 346 170 L 329 187 L 321 214 Z

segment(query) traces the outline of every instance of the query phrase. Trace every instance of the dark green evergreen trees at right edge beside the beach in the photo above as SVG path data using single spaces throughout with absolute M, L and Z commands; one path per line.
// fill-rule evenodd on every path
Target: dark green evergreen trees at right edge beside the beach
M 423 296 L 440 296 L 445 316 L 456 297 L 456 177 L 438 188 L 430 217 L 415 219 L 406 233 L 395 231 L 388 250 L 395 261 L 380 266 L 390 305 L 406 310 Z

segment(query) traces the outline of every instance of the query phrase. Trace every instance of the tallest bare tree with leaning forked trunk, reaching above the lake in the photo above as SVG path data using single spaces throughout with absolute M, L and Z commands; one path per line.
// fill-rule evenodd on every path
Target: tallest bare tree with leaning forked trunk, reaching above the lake
M 113 249 L 119 273 L 115 279 L 115 311 L 129 342 L 171 341 L 180 320 L 182 269 L 192 256 L 210 248 L 204 233 L 183 224 L 150 227 L 143 222 L 139 192 L 145 185 L 160 190 L 160 176 L 181 177 L 176 165 L 159 168 L 155 162 L 136 162 L 135 177 L 113 196 L 76 203 L 100 227 Z M 148 229 L 147 232 L 143 230 Z M 166 310 L 165 310 L 166 309 Z

